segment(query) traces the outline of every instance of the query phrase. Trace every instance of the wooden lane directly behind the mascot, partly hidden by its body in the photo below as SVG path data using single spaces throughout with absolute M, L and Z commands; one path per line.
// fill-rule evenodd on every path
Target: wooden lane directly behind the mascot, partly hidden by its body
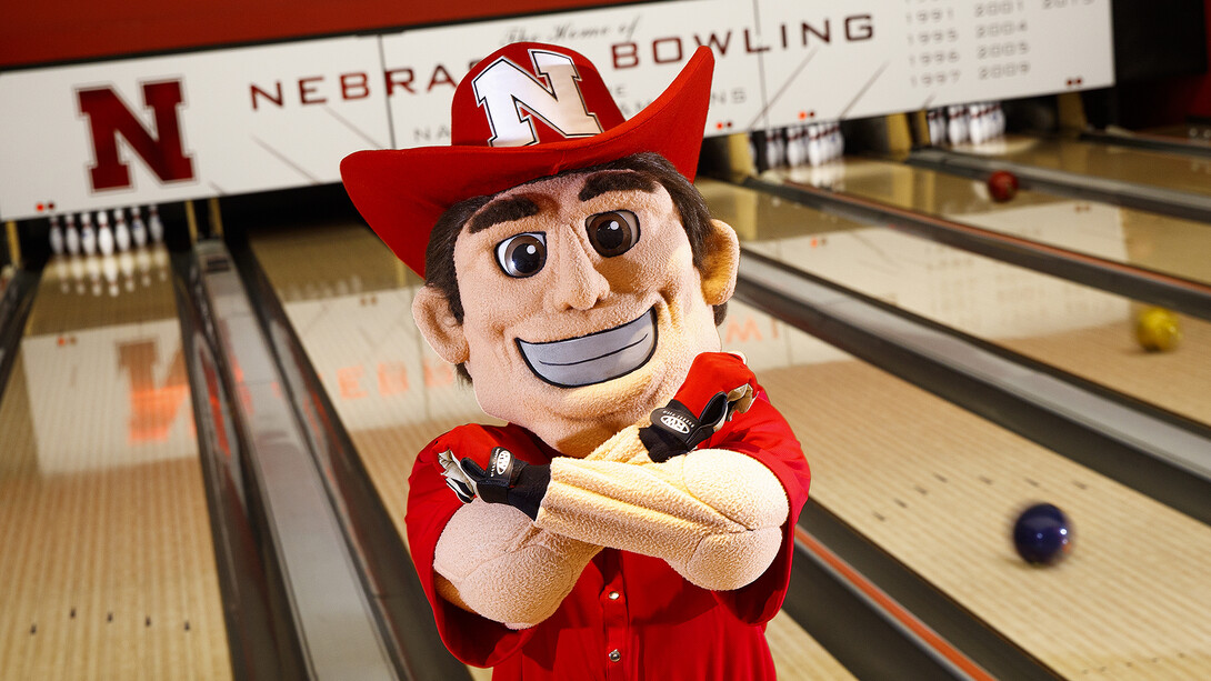
M 455 425 L 493 423 L 417 331 L 411 310 L 419 277 L 357 224 L 263 231 L 252 248 L 404 537 L 415 453 Z M 768 637 L 780 676 L 853 679 L 785 613 L 770 622 Z

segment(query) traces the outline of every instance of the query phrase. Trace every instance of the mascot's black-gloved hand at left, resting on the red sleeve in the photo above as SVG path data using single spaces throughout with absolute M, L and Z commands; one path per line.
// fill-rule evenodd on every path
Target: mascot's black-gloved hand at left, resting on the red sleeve
M 480 497 L 489 504 L 509 504 L 534 520 L 551 482 L 551 467 L 528 464 L 504 447 L 495 447 L 484 470 L 474 459 L 454 458 L 446 451 L 438 456 L 446 469 L 446 483 L 463 503 Z

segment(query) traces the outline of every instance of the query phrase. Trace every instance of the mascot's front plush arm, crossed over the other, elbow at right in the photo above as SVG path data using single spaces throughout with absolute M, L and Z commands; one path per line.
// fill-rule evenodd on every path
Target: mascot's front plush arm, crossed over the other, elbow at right
M 551 463 L 536 527 L 665 559 L 707 589 L 737 589 L 769 567 L 790 513 L 769 469 L 727 450 L 652 463 L 625 436 L 612 442 L 589 459 Z

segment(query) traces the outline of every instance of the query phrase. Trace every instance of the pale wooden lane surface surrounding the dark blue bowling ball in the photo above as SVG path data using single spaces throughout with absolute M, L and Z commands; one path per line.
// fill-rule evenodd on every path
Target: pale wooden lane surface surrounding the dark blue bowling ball
M 1211 677 L 1211 528 L 857 361 L 758 372 L 813 465 L 813 496 L 1071 679 Z M 1016 513 L 1072 519 L 1023 563 Z

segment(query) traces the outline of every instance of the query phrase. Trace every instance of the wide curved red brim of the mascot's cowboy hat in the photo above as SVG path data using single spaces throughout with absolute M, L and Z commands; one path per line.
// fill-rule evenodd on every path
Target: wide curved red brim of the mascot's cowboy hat
M 714 57 L 700 47 L 652 104 L 592 137 L 530 147 L 420 147 L 356 151 L 340 162 L 345 190 L 366 222 L 424 276 L 429 233 L 454 204 L 524 182 L 655 151 L 694 179 Z

